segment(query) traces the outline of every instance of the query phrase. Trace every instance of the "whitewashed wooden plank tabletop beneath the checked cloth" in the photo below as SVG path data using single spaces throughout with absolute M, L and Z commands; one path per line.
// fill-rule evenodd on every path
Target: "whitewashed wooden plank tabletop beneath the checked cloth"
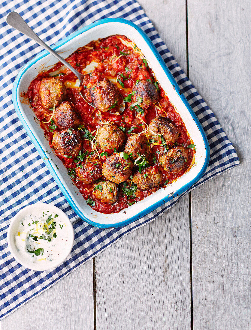
M 19 308 L 1 330 L 251 329 L 250 1 L 139 2 L 241 165 Z

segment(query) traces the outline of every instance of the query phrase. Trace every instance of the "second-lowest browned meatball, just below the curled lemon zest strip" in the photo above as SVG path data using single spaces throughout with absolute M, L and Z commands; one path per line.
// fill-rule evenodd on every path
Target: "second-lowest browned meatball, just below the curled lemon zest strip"
M 136 183 L 140 190 L 148 190 L 158 187 L 161 184 L 162 173 L 157 166 L 146 167 L 141 173 L 137 172 L 132 178 L 132 182 Z

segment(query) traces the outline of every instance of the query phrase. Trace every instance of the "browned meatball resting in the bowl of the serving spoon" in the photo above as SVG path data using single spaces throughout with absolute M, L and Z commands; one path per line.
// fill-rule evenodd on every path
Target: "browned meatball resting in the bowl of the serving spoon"
M 89 92 L 94 106 L 101 111 L 114 108 L 120 96 L 118 89 L 110 80 L 97 82 L 90 87 Z

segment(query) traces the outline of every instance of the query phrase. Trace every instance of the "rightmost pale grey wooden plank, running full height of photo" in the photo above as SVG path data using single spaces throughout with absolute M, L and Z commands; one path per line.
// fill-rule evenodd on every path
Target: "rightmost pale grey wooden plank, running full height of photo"
M 192 192 L 194 329 L 250 329 L 250 1 L 188 1 L 189 74 L 241 165 Z

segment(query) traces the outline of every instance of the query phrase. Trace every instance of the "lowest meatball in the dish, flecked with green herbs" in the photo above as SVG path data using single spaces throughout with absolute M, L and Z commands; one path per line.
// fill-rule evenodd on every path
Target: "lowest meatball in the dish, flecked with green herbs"
M 93 196 L 102 203 L 114 204 L 119 198 L 119 188 L 114 182 L 100 181 L 93 185 Z

